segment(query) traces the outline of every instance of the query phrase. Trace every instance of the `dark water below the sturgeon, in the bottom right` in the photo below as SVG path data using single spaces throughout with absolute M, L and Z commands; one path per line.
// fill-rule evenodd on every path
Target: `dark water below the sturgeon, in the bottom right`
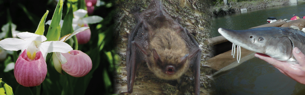
M 216 75 L 217 95 L 304 95 L 305 85 L 282 74 L 267 62 L 252 58 Z

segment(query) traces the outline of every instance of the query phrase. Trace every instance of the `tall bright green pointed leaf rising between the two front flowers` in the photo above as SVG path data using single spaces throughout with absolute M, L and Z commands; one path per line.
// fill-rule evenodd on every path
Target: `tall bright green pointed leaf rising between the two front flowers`
M 60 36 L 60 25 L 59 22 L 61 20 L 63 12 L 63 0 L 59 0 L 54 11 L 50 27 L 48 29 L 47 40 L 46 41 L 56 41 Z M 59 30 L 58 30 L 59 29 Z

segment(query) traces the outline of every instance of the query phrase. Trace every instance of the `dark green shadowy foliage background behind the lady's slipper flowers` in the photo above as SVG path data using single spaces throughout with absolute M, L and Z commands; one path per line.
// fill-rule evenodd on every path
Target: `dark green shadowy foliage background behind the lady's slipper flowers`
M 68 11 L 67 1 L 65 0 L 63 3 L 62 19 L 65 18 Z M 93 64 L 91 71 L 84 77 L 75 78 L 65 72 L 65 75 L 59 74 L 52 63 L 47 62 L 48 74 L 41 84 L 41 95 L 105 95 L 113 93 L 113 72 L 115 71 L 113 64 L 116 62 L 115 50 L 113 50 L 114 4 L 110 0 L 104 0 L 104 2 L 105 4 L 111 3 L 112 6 L 95 7 L 93 15 L 101 16 L 104 19 L 100 23 L 89 24 L 91 29 L 90 41 L 87 44 L 78 45 L 78 50 L 90 56 Z M 2 27 L 11 20 L 12 23 L 17 25 L 16 30 L 34 33 L 46 10 L 49 10 L 46 21 L 52 19 L 56 3 L 48 2 L 48 0 L 0 0 L 0 26 Z M 81 6 L 79 5 L 79 7 Z M 47 34 L 47 30 L 48 25 L 45 26 L 44 35 Z M 19 52 L 17 51 L 17 54 Z M 3 72 L 5 64 L 13 62 L 15 57 L 14 55 L 8 55 L 5 61 L 0 62 L 0 78 L 13 88 L 15 95 L 37 94 L 38 87 L 19 85 L 16 82 L 13 70 Z

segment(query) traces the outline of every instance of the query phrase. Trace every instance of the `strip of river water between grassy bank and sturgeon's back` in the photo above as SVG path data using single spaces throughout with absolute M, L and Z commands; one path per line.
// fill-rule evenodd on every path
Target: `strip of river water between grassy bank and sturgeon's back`
M 221 36 L 217 31 L 218 28 L 245 30 L 267 24 L 268 17 L 290 20 L 290 18 L 293 17 L 293 14 L 300 18 L 305 16 L 305 3 L 248 10 L 245 13 L 237 12 L 234 14 L 213 17 L 213 37 Z

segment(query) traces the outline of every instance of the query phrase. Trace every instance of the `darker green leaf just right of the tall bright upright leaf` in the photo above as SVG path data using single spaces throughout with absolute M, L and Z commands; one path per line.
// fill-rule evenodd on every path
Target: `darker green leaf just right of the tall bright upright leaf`
M 63 28 L 61 28 L 61 32 L 60 32 L 60 35 L 62 37 L 69 33 L 73 33 L 72 19 L 73 19 L 73 8 L 70 7 L 65 18 L 63 19 Z

